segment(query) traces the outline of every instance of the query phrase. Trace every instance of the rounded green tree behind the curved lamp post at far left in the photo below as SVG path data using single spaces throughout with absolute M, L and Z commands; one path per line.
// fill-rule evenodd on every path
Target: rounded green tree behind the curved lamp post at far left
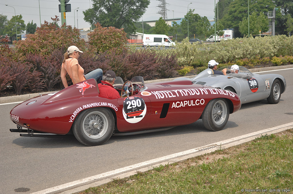
M 23 33 L 23 30 L 25 30 L 25 24 L 24 24 L 24 21 L 22 20 L 22 15 L 16 15 L 16 26 L 17 26 L 17 33 L 18 34 Z M 15 16 L 12 16 L 11 20 L 7 22 L 7 25 L 4 28 L 4 33 L 16 39 Z

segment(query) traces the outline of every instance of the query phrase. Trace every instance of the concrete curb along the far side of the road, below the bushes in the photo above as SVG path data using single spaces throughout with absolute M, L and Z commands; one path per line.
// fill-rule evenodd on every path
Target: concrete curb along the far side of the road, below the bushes
M 249 69 L 249 70 L 252 73 L 256 73 L 256 72 L 261 72 L 261 71 L 280 70 L 280 69 L 288 69 L 288 68 L 293 68 L 293 65 L 283 65 L 283 66 L 276 66 L 276 67 L 263 67 L 263 68 Z M 192 77 L 195 77 L 195 75 L 184 76 L 184 77 L 192 78 Z M 173 79 L 176 79 L 176 78 L 178 78 L 178 77 L 167 78 L 167 79 L 155 79 L 155 80 L 145 81 L 145 83 L 147 84 L 147 83 L 154 83 L 154 82 L 166 82 L 166 81 L 172 81 Z M 40 94 L 46 94 L 46 93 L 51 93 L 51 92 L 42 92 Z M 30 98 L 36 97 L 36 96 L 39 96 L 39 93 L 0 97 L 0 104 L 25 101 Z

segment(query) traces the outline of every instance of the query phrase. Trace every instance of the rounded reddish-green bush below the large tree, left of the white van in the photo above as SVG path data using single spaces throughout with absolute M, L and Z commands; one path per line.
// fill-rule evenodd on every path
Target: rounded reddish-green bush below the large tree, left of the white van
M 96 48 L 96 53 L 111 51 L 113 48 L 124 48 L 127 42 L 126 32 L 115 27 L 102 27 L 96 23 L 96 28 L 88 34 L 88 44 Z

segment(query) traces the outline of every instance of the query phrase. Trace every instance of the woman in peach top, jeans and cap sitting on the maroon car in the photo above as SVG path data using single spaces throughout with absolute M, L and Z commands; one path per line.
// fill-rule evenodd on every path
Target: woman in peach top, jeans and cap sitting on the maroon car
M 99 84 L 103 79 L 103 70 L 101 69 L 93 70 L 84 75 L 84 69 L 78 63 L 80 53 L 83 53 L 83 51 L 80 51 L 76 46 L 69 46 L 67 52 L 64 53 L 60 76 L 65 88 L 68 87 L 65 77 L 67 73 L 73 84 L 77 84 L 91 78 L 96 79 Z

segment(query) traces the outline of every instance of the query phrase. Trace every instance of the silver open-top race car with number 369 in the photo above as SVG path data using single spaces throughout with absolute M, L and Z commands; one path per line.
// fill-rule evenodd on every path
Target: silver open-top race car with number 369
M 221 67 L 218 70 L 227 68 L 227 74 L 231 66 Z M 176 80 L 189 79 L 194 84 L 201 84 L 233 91 L 240 97 L 241 103 L 249 103 L 267 98 L 268 103 L 277 104 L 281 94 L 286 90 L 286 80 L 282 75 L 251 73 L 245 67 L 239 66 L 239 74 L 251 75 L 251 79 L 236 78 L 226 75 L 214 75 L 212 69 L 200 72 L 194 78 L 177 78 Z

